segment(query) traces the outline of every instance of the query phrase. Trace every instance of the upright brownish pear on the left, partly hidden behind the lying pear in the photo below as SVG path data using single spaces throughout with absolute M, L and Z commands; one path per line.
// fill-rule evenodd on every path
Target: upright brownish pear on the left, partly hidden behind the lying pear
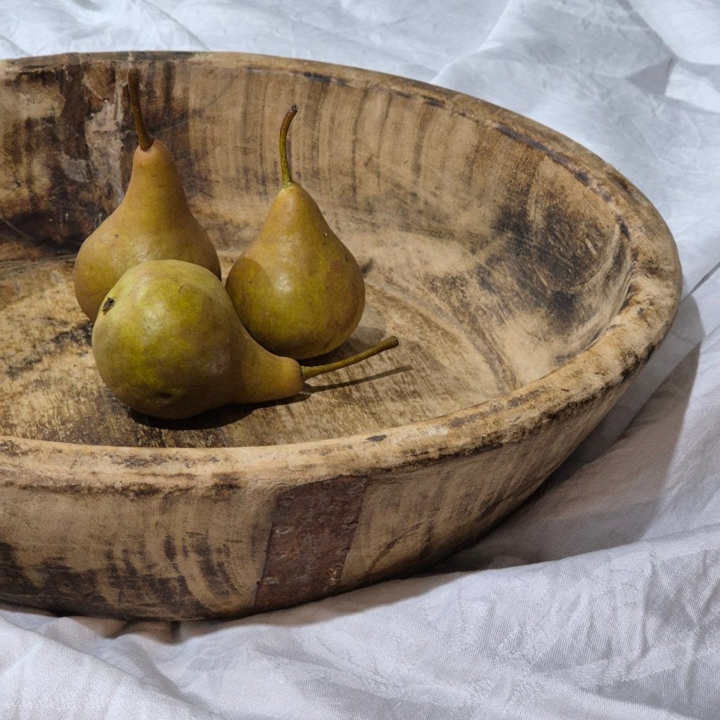
M 81 245 L 73 274 L 78 304 L 91 320 L 120 276 L 147 260 L 185 260 L 220 278 L 217 253 L 188 207 L 170 150 L 145 127 L 140 72 L 132 68 L 127 81 L 139 143 L 130 183 L 120 205 Z

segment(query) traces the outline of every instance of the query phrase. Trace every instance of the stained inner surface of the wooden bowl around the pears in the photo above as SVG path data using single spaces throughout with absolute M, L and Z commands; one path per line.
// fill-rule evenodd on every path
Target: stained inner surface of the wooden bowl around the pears
M 239 446 L 379 433 L 517 390 L 588 348 L 626 300 L 624 222 L 580 165 L 481 101 L 350 68 L 243 55 L 138 55 L 145 117 L 172 150 L 223 277 L 294 178 L 358 258 L 361 325 L 332 357 L 400 347 L 286 402 L 182 423 L 103 386 L 73 255 L 117 203 L 135 134 L 126 55 L 0 73 L 0 435 L 78 444 Z M 9 338 L 9 340 L 8 340 Z M 323 359 L 325 360 L 325 359 Z

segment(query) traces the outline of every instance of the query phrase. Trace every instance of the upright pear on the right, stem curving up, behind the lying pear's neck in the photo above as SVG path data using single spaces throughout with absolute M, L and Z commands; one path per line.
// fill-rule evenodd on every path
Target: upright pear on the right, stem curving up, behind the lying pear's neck
M 318 204 L 292 180 L 287 131 L 296 113 L 293 105 L 280 129 L 283 187 L 260 234 L 230 269 L 225 288 L 258 343 L 305 359 L 328 353 L 351 336 L 365 307 L 365 283 Z

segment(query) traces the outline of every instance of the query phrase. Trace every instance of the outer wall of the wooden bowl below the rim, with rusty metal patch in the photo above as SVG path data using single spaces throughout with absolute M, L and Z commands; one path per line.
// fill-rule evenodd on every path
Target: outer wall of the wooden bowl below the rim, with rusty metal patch
M 292 485 L 228 465 L 200 484 L 192 470 L 151 469 L 132 490 L 92 472 L 48 483 L 32 454 L 19 451 L 22 469 L 0 455 L 0 598 L 92 616 L 229 618 L 407 575 L 523 503 L 622 390 L 514 443 L 416 456 L 379 475 L 316 469 Z

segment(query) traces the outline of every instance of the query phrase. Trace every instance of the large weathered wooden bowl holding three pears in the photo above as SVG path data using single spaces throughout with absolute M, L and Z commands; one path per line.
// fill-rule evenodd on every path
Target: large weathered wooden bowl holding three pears
M 183 423 L 94 368 L 73 254 L 114 210 L 127 69 L 224 271 L 294 176 L 359 259 L 368 303 L 287 402 Z M 0 63 L 0 598 L 122 618 L 225 618 L 406 575 L 516 508 L 662 340 L 664 222 L 588 150 L 414 81 L 234 53 Z

